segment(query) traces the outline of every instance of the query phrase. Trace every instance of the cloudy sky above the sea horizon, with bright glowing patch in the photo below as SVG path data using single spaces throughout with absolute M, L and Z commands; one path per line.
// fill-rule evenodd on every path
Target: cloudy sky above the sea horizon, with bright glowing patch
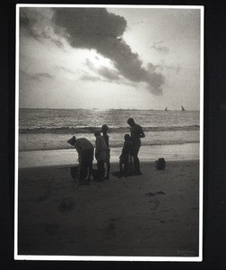
M 200 9 L 20 7 L 22 108 L 199 110 Z

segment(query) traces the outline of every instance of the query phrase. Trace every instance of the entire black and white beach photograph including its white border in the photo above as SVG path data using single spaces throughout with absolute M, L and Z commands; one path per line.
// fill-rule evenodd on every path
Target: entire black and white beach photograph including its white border
M 204 6 L 17 4 L 14 259 L 203 260 Z

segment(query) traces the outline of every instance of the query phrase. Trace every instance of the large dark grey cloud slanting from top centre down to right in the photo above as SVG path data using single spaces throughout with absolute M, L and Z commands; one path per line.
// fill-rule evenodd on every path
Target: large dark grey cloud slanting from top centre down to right
M 123 17 L 109 14 L 105 8 L 55 8 L 54 11 L 55 31 L 71 46 L 96 49 L 112 60 L 122 76 L 133 82 L 146 82 L 153 94 L 161 94 L 164 77 L 146 70 L 138 55 L 122 39 L 126 31 Z M 106 70 L 102 70 L 103 74 L 109 76 Z

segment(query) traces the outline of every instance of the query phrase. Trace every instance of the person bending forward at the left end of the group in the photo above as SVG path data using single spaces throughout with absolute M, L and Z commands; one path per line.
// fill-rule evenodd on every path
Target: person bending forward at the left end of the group
M 67 142 L 73 145 L 78 152 L 80 180 L 84 180 L 87 176 L 86 180 L 91 181 L 93 145 L 88 139 L 76 139 L 75 136 L 73 136 L 71 139 L 68 139 Z

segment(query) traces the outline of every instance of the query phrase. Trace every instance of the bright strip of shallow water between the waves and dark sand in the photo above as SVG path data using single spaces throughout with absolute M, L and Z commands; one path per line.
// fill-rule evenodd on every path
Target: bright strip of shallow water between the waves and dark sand
M 117 163 L 121 153 L 121 148 L 110 148 L 110 162 Z M 18 167 L 36 166 L 61 166 L 76 165 L 78 155 L 74 148 L 45 151 L 24 151 L 18 153 Z M 141 162 L 154 162 L 160 157 L 166 161 L 173 160 L 198 160 L 199 143 L 186 143 L 182 145 L 158 145 L 142 146 L 139 151 Z M 95 158 L 93 159 L 95 164 Z

